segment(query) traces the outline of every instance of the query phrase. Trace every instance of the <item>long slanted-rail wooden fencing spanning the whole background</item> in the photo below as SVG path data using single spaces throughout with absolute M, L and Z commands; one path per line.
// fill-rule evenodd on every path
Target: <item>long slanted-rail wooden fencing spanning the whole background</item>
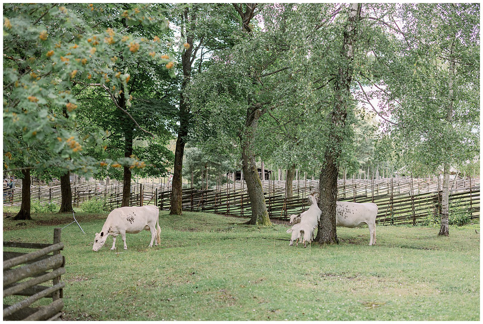
M 246 183 L 227 177 L 227 183 L 212 189 L 183 189 L 183 209 L 186 211 L 215 212 L 249 217 L 250 199 Z M 458 177 L 451 181 L 450 212 L 465 214 L 468 218 L 480 217 L 480 178 Z M 306 179 L 292 183 L 293 197 L 286 197 L 285 181 L 264 180 L 267 208 L 271 218 L 287 219 L 292 213 L 305 211 L 307 195 L 318 188 L 318 181 Z M 4 191 L 4 205 L 19 206 L 20 182 L 12 191 Z M 72 200 L 79 207 L 89 199 L 102 199 L 106 210 L 121 206 L 122 183 L 115 180 L 85 181 L 71 179 Z M 384 225 L 416 224 L 441 211 L 441 181 L 428 178 L 340 179 L 339 201 L 374 202 L 378 205 L 377 222 Z M 156 204 L 161 210 L 170 208 L 170 183 L 132 183 L 131 206 Z M 31 187 L 32 201 L 60 204 L 60 183 L 37 183 Z

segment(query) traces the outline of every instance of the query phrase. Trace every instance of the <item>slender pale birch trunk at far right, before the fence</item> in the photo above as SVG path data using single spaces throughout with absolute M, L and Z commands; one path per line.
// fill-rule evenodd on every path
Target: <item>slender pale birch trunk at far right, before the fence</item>
M 451 45 L 450 50 L 450 68 L 449 68 L 449 83 L 448 83 L 448 109 L 446 111 L 446 127 L 451 127 L 451 121 L 453 120 L 453 100 L 454 100 L 454 80 L 455 77 L 455 59 L 453 58 L 453 50 L 455 46 L 455 40 Z M 444 160 L 443 166 L 443 195 L 441 201 L 441 227 L 440 233 L 438 235 L 449 236 L 449 218 L 450 218 L 450 211 L 449 211 L 449 183 L 450 183 L 450 159 L 449 151 L 451 148 L 448 148 L 448 154 Z

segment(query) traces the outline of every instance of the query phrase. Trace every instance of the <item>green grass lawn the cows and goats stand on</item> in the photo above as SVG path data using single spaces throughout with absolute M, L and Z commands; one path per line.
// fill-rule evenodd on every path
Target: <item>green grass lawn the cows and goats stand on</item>
M 107 214 L 76 218 L 62 231 L 67 320 L 473 320 L 480 319 L 479 223 L 438 228 L 338 228 L 340 245 L 289 247 L 288 224 L 160 213 L 161 245 L 127 234 L 92 251 Z M 3 239 L 52 242 L 71 215 L 3 221 Z M 5 248 L 5 250 L 7 250 Z M 8 249 L 9 251 L 18 251 Z M 13 296 L 4 298 L 11 304 Z M 45 304 L 48 300 L 41 301 Z M 39 302 L 34 305 L 40 305 Z

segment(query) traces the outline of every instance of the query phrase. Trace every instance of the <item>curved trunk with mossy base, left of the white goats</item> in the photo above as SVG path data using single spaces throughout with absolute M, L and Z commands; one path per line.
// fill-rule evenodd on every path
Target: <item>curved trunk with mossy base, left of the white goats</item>
M 262 182 L 256 167 L 253 146 L 255 141 L 255 130 L 258 125 L 260 110 L 257 107 L 248 108 L 246 116 L 246 130 L 244 138 L 241 138 L 241 168 L 245 178 L 250 205 L 252 206 L 252 218 L 248 222 L 251 225 L 271 225 L 269 212 L 265 203 Z

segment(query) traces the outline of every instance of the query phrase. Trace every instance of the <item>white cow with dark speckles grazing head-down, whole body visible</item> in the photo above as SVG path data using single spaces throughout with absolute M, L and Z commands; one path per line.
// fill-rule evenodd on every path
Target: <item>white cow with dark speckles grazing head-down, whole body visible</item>
M 124 250 L 128 249 L 126 245 L 126 233 L 136 234 L 143 229 L 151 231 L 151 243 L 149 247 L 153 246 L 153 240 L 156 240 L 155 245 L 160 242 L 159 227 L 159 208 L 157 206 L 142 206 L 142 207 L 121 207 L 111 211 L 107 216 L 104 226 L 100 233 L 96 233 L 94 239 L 93 251 L 98 251 L 106 242 L 107 237 L 113 237 L 114 250 L 116 245 L 116 237 L 121 234 L 124 242 Z

